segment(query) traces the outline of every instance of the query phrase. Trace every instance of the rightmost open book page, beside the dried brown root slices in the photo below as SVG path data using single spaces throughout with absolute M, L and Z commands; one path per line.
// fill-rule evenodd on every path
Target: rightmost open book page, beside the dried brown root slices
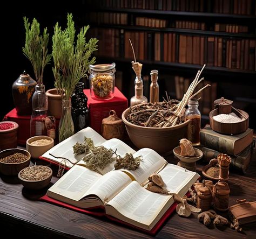
M 167 164 L 163 170 L 158 173 L 165 183 L 165 189 L 171 193 L 186 194 L 188 188 L 199 178 L 196 172 L 185 170 L 185 168 Z

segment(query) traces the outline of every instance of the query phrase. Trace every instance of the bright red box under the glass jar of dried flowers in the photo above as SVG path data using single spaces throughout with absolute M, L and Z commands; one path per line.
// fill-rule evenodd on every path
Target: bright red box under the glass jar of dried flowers
M 84 90 L 88 97 L 87 106 L 89 108 L 90 126 L 92 129 L 101 132 L 102 120 L 109 116 L 109 111 L 116 111 L 119 118 L 122 118 L 122 113 L 128 108 L 127 98 L 120 92 L 117 87 L 114 87 L 114 97 L 110 100 L 94 100 L 91 97 L 90 89 Z

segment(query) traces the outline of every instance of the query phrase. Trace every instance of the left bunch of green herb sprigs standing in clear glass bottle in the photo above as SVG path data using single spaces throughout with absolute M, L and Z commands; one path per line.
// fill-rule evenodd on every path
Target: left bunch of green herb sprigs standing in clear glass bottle
M 47 27 L 40 34 L 40 24 L 34 18 L 32 24 L 24 17 L 25 26 L 25 46 L 22 48 L 23 54 L 28 58 L 33 66 L 36 81 L 39 86 L 43 85 L 44 68 L 51 61 L 51 54 L 48 54 L 49 33 Z

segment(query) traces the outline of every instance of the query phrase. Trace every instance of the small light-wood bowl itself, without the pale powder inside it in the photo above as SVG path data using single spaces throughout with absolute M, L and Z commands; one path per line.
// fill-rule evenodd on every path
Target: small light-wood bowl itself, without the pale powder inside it
M 50 143 L 45 145 L 32 145 L 31 143 L 38 139 L 48 139 L 50 140 Z M 42 156 L 46 151 L 51 149 L 54 146 L 54 140 L 49 136 L 34 136 L 26 140 L 26 150 L 28 150 L 31 153 L 32 158 L 39 158 L 39 156 Z

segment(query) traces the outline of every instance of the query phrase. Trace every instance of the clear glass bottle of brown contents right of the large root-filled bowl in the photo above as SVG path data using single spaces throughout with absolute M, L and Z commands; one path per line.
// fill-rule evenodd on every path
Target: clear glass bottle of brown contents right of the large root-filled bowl
M 188 101 L 187 105 L 188 108 L 185 112 L 185 121 L 191 120 L 187 128 L 187 139 L 190 140 L 193 145 L 199 145 L 201 113 L 198 109 L 198 100 L 191 99 Z

